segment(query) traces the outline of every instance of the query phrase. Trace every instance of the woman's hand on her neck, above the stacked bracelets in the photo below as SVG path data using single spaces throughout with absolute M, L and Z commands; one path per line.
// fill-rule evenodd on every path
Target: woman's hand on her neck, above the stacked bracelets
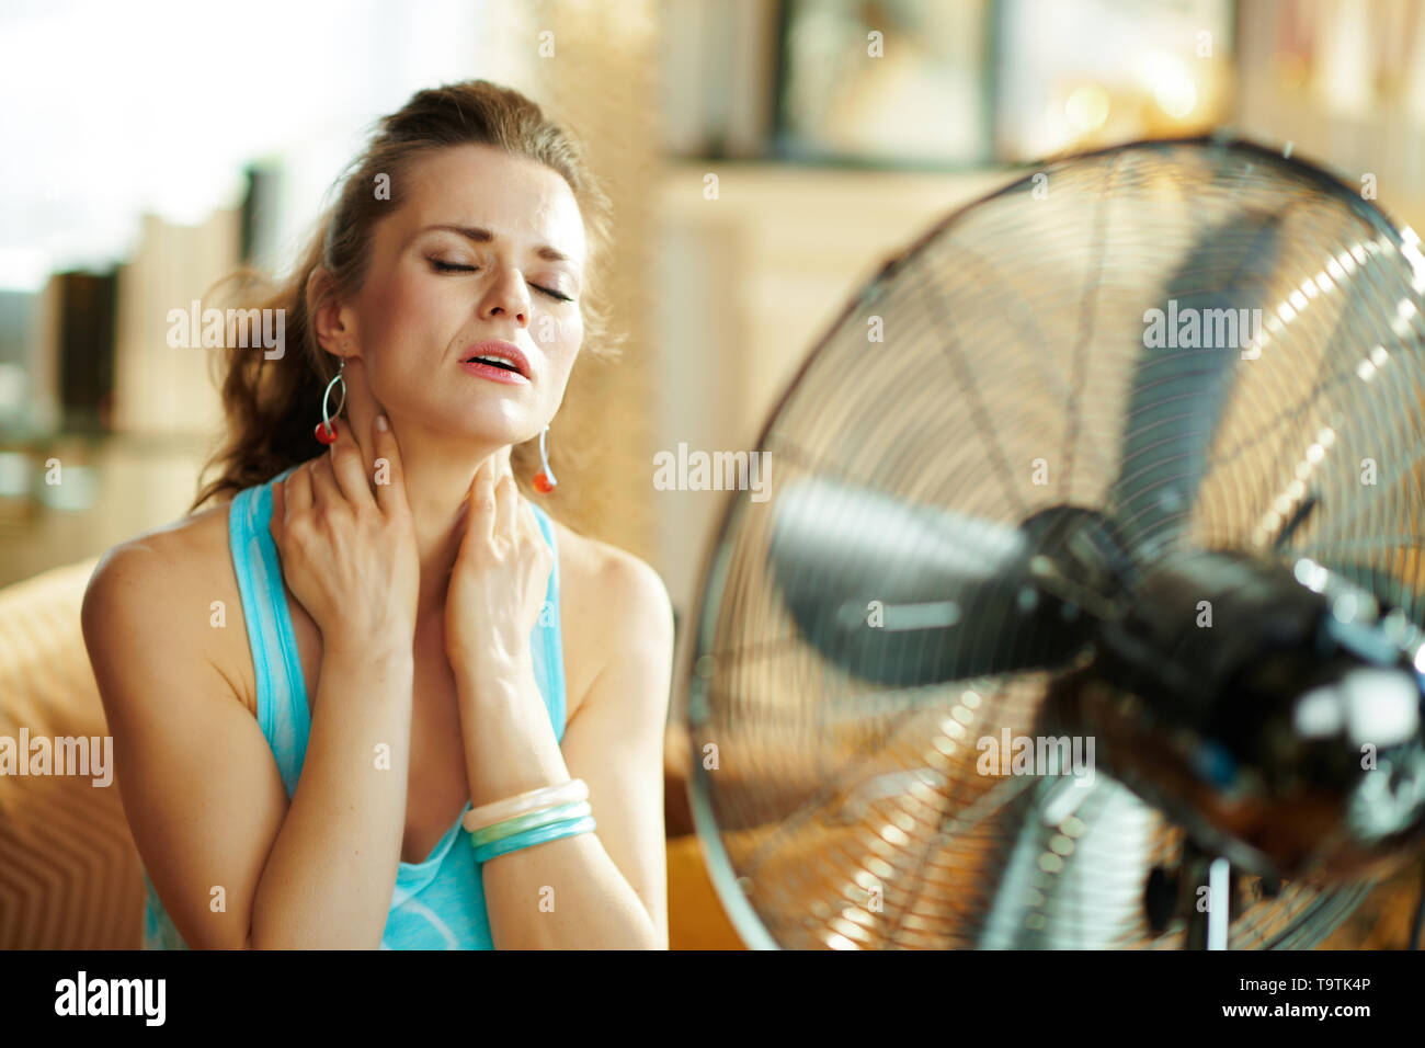
M 534 510 L 520 498 L 510 449 L 475 473 L 465 536 L 446 592 L 446 654 L 457 674 L 517 674 L 532 664 L 530 633 L 554 566 Z

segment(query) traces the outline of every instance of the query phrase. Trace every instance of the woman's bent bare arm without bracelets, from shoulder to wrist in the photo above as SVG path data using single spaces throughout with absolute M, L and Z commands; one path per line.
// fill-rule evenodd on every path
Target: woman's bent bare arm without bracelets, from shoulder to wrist
M 355 469 L 361 481 L 359 459 Z M 329 543 L 308 532 L 288 546 L 294 559 Z M 379 565 L 362 552 L 342 550 L 352 577 L 379 585 Z M 352 607 L 395 615 L 351 615 L 351 643 L 323 644 L 306 757 L 288 804 L 259 726 L 207 654 L 211 595 L 195 577 L 175 538 L 134 542 L 104 558 L 84 596 L 115 776 L 148 875 L 195 948 L 375 948 L 405 826 L 410 595 L 348 592 Z

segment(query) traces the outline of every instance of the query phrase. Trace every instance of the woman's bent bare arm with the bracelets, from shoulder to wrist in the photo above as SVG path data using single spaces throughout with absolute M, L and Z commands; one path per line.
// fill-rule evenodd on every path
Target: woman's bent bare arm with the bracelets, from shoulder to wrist
M 631 559 L 608 569 L 601 592 L 616 623 L 608 664 L 563 746 L 533 673 L 509 686 L 489 674 L 459 677 L 475 803 L 583 779 L 597 820 L 593 833 L 484 864 L 500 950 L 668 948 L 663 731 L 673 610 L 663 580 Z

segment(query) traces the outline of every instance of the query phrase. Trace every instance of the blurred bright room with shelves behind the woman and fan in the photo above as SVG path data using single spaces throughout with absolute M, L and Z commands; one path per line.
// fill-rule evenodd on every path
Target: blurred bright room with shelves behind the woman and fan
M 579 433 L 593 466 L 546 505 L 653 563 L 684 635 L 728 495 L 657 490 L 653 455 L 755 448 L 858 287 L 1027 165 L 1231 130 L 1425 228 L 1422 9 L 6 0 L 0 586 L 187 512 L 221 413 L 168 312 L 242 262 L 285 268 L 372 121 L 422 87 L 530 94 L 607 183 L 627 348 L 576 368 L 550 443 Z

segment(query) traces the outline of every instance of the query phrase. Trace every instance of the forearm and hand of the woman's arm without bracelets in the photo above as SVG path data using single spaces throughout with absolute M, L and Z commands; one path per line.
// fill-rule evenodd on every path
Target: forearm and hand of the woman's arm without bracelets
M 302 777 L 254 900 L 258 947 L 375 950 L 396 887 L 419 565 L 395 435 L 373 439 L 392 475 L 379 499 L 346 426 L 329 456 L 274 486 L 269 528 L 322 627 L 322 670 Z

